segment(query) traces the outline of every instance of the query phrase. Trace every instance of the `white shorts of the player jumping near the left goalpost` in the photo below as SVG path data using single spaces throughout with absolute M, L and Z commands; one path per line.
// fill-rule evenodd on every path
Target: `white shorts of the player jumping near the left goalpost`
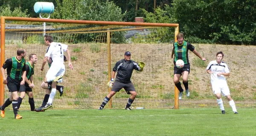
M 64 64 L 53 64 L 47 71 L 46 77 L 57 77 L 59 75 L 64 75 L 65 65 Z

